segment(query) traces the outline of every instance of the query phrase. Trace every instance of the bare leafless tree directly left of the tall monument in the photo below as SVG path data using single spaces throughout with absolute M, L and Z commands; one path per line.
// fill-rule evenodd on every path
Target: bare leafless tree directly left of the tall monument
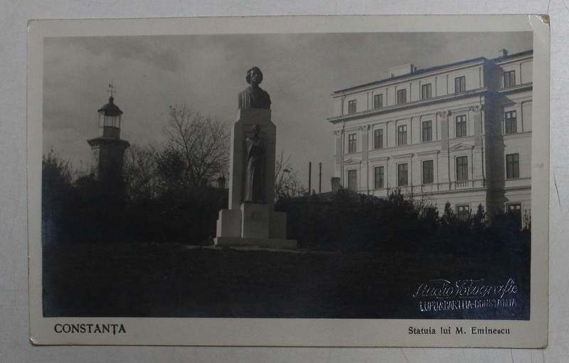
M 161 156 L 169 164 L 182 167 L 177 176 L 191 186 L 201 186 L 204 181 L 227 174 L 230 132 L 226 122 L 201 115 L 185 105 L 170 107 L 169 122 L 162 132 L 166 144 Z

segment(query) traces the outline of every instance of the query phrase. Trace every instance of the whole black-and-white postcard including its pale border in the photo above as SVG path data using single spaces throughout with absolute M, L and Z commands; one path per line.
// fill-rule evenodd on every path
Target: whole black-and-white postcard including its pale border
M 498 18 L 31 23 L 32 338 L 544 344 L 548 43 Z

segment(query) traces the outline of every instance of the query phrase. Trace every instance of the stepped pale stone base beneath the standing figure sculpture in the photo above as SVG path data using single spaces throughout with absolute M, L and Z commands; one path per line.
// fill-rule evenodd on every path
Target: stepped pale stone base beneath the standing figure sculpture
M 222 209 L 217 223 L 216 246 L 297 248 L 287 239 L 287 214 L 269 204 L 242 203 L 240 209 Z

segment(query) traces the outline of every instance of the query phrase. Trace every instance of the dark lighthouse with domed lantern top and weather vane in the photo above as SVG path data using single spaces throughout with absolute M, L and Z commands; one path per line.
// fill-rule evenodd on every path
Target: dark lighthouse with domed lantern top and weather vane
M 120 138 L 122 111 L 115 105 L 112 97 L 112 85 L 109 85 L 111 97 L 99 112 L 99 136 L 87 140 L 92 150 L 91 172 L 97 180 L 110 189 L 122 186 L 122 166 L 124 151 L 130 146 L 127 140 Z

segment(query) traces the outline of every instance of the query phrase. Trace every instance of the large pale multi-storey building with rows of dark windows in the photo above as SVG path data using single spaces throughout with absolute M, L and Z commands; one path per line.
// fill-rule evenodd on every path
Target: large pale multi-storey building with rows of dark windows
M 531 222 L 533 51 L 417 69 L 332 93 L 334 176 L 353 191 L 395 189 L 459 218 Z

